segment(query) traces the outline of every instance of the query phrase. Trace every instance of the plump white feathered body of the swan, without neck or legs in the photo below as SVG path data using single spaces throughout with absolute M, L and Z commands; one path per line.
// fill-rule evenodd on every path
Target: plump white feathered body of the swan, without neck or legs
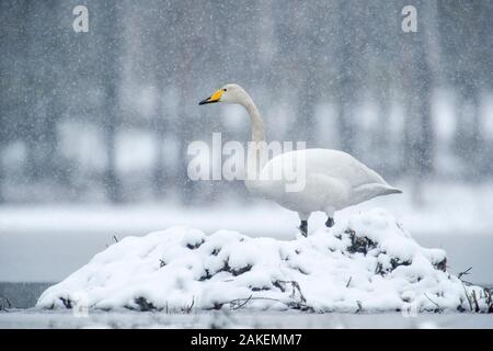
M 351 155 L 330 149 L 306 149 L 282 154 L 270 160 L 261 172 L 272 174 L 274 169 L 294 162 L 287 159 L 297 159 L 297 157 L 303 157 L 306 161 L 306 176 L 297 174 L 297 177 L 306 177 L 302 191 L 286 191 L 286 185 L 291 183 L 293 179 L 289 181 L 284 179 L 279 181 L 246 180 L 246 186 L 251 192 L 274 200 L 306 218 L 317 211 L 323 211 L 332 217 L 334 211 L 378 195 L 400 192 Z M 262 176 L 260 178 L 262 179 Z

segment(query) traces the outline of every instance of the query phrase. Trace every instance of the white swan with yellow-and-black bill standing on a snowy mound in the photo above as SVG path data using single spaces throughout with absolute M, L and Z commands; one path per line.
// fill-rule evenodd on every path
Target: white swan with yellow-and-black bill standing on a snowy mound
M 326 214 L 326 227 L 334 225 L 334 212 L 368 201 L 376 196 L 402 193 L 389 185 L 381 176 L 359 162 L 349 154 L 322 149 L 302 149 L 280 154 L 267 160 L 261 157 L 265 152 L 264 123 L 252 98 L 238 84 L 226 84 L 198 104 L 232 103 L 242 105 L 251 120 L 252 141 L 260 152 L 249 147 L 246 162 L 259 165 L 246 169 L 245 185 L 250 193 L 272 200 L 280 206 L 298 213 L 301 224 L 299 230 L 308 235 L 308 218 L 313 212 Z M 287 179 L 293 172 L 296 160 L 302 160 L 303 167 L 297 168 L 296 177 L 303 177 L 299 191 L 288 191 Z M 289 168 L 289 170 L 287 169 Z M 278 171 L 279 179 L 270 179 L 266 174 Z M 272 177 L 271 177 L 272 178 Z

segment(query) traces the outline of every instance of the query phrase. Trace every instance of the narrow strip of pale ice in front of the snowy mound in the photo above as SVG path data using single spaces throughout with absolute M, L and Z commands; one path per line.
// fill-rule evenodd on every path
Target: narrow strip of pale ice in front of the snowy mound
M 87 316 L 69 309 L 22 309 L 0 313 L 0 328 L 493 328 L 485 314 L 307 314 L 300 312 L 215 310 L 190 314 L 154 312 L 100 312 Z

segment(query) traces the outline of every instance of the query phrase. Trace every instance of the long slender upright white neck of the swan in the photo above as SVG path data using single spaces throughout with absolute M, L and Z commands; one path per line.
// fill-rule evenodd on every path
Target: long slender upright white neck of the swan
M 259 112 L 253 100 L 246 95 L 243 106 L 246 109 L 251 125 L 252 125 L 252 140 L 248 147 L 246 156 L 246 179 L 257 179 L 259 172 L 267 162 L 267 157 L 265 155 L 265 132 L 264 132 L 264 121 Z M 255 167 L 251 167 L 255 165 Z M 254 172 L 254 174 L 252 174 Z

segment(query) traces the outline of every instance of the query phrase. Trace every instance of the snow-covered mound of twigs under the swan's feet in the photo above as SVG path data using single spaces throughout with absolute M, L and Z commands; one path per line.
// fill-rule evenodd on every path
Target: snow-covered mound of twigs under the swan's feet
M 467 248 L 465 248 L 467 249 Z M 491 312 L 491 292 L 446 271 L 388 212 L 291 241 L 171 228 L 127 237 L 39 297 L 43 308 L 191 312 Z

